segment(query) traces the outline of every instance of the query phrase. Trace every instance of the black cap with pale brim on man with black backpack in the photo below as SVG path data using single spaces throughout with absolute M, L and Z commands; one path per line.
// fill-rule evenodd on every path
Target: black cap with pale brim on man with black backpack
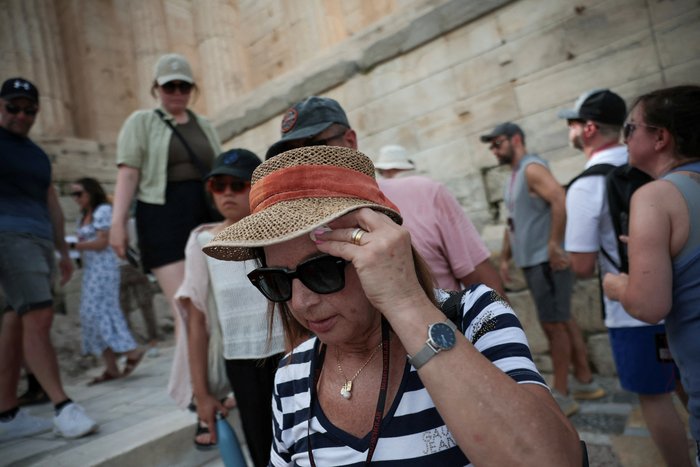
M 609 89 L 592 89 L 579 96 L 573 109 L 560 110 L 557 115 L 568 120 L 593 120 L 622 126 L 627 116 L 627 105 Z

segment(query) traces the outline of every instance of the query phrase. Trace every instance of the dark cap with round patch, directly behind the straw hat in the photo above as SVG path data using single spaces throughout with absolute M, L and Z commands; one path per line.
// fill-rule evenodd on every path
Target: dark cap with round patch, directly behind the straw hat
M 328 97 L 311 96 L 297 102 L 282 117 L 282 139 L 270 146 L 265 160 L 285 151 L 285 143 L 297 139 L 307 139 L 321 133 L 334 123 L 350 128 L 348 117 L 337 101 Z

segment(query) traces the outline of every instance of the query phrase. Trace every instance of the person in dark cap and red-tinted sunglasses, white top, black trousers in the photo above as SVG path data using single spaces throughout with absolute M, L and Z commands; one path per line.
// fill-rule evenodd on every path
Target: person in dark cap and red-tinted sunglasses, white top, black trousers
M 264 467 L 272 443 L 274 374 L 284 350 L 282 326 L 279 320 L 268 324 L 267 301 L 246 277 L 254 262 L 218 261 L 202 253 L 215 235 L 250 215 L 250 179 L 258 165 L 252 152 L 232 149 L 216 158 L 206 177 L 224 221 L 197 227 L 187 242 L 185 280 L 174 298 L 180 336 L 168 389 L 182 408 L 194 395 L 200 420 L 195 446 L 206 450 L 216 448 L 216 432 L 209 430 L 216 412 L 226 414 L 231 407 L 220 402 L 230 382 L 251 457 Z

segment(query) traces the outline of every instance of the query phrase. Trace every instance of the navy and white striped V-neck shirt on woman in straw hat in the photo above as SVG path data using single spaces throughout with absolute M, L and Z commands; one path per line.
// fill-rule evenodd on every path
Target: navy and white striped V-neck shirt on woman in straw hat
M 438 302 L 448 298 L 436 290 Z M 468 288 L 462 300 L 462 332 L 475 348 L 518 383 L 546 387 L 535 368 L 520 321 L 508 303 L 482 284 Z M 273 395 L 272 466 L 309 466 L 307 420 L 320 341 L 313 337 L 280 363 Z M 465 394 L 465 397 L 469 397 Z M 316 465 L 364 466 L 370 435 L 358 439 L 333 426 L 315 400 L 310 422 Z M 410 464 L 408 463 L 410 462 Z M 418 372 L 408 360 L 401 386 L 382 421 L 372 464 L 384 467 L 471 466 L 435 409 Z

